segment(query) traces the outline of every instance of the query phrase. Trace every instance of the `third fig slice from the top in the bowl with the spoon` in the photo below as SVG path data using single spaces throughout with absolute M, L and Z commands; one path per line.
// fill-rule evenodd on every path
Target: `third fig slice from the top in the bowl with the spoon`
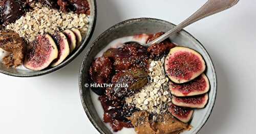
M 202 109 L 208 102 L 208 94 L 189 96 L 189 97 L 175 97 L 173 96 L 172 102 L 178 106 L 184 106 L 188 108 Z

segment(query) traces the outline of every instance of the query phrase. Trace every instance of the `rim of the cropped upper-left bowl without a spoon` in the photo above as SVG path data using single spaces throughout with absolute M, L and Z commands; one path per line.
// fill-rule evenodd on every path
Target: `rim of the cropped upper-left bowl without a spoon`
M 91 30 L 87 33 L 88 38 L 86 40 L 83 40 L 82 44 L 78 47 L 78 49 L 68 59 L 66 59 L 64 62 L 57 65 L 56 67 L 49 68 L 47 70 L 38 71 L 38 72 L 32 72 L 30 74 L 12 73 L 12 72 L 8 72 L 8 71 L 2 70 L 2 69 L 0 69 L 0 73 L 7 74 L 9 76 L 15 76 L 15 77 L 35 77 L 35 76 L 45 75 L 45 74 L 57 71 L 60 68 L 62 68 L 64 66 L 68 65 L 69 63 L 71 63 L 82 52 L 82 50 L 84 48 L 86 48 L 86 46 L 89 44 L 89 41 L 91 40 L 92 35 L 94 33 L 94 30 L 95 30 L 96 21 L 97 21 L 97 2 L 96 2 L 96 0 L 91 0 L 91 1 L 92 1 L 92 5 L 94 7 L 94 15 L 92 17 L 93 21 L 92 21 Z

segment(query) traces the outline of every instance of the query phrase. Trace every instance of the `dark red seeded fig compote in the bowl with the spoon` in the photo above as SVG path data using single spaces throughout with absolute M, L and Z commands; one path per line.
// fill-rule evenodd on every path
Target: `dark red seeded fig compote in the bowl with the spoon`
M 113 131 L 121 130 L 123 127 L 133 127 L 127 117 L 138 110 L 134 106 L 128 106 L 125 97 L 137 93 L 147 84 L 145 70 L 148 68 L 148 59 L 147 49 L 144 46 L 126 44 L 119 49 L 107 50 L 102 57 L 95 59 L 90 67 L 89 73 L 93 83 L 114 85 L 106 88 L 99 97 L 104 110 L 103 121 L 110 123 Z M 97 93 L 98 90 L 93 91 Z

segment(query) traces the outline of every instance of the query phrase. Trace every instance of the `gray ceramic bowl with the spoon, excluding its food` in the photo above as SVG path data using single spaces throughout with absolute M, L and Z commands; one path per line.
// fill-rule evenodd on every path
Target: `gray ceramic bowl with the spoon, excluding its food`
M 86 111 L 88 118 L 100 133 L 113 132 L 110 130 L 109 124 L 102 122 L 103 114 L 99 112 L 102 108 L 100 108 L 101 105 L 99 103 L 95 105 L 95 103 L 97 103 L 95 102 L 95 94 L 90 90 L 90 88 L 86 88 L 86 86 L 84 86 L 85 84 L 89 83 L 88 69 L 92 61 L 94 60 L 94 57 L 102 48 L 104 48 L 108 43 L 110 43 L 114 39 L 142 33 L 157 33 L 161 31 L 166 32 L 172 29 L 174 26 L 175 25 L 173 23 L 153 18 L 130 19 L 112 26 L 110 29 L 102 33 L 90 45 L 90 48 L 87 50 L 87 53 L 83 58 L 82 65 L 80 68 L 79 89 L 84 111 Z M 207 70 L 205 73 L 208 76 L 210 82 L 208 104 L 204 109 L 195 111 L 193 119 L 190 123 L 193 126 L 193 128 L 190 131 L 183 132 L 197 133 L 209 118 L 212 108 L 214 107 L 217 92 L 217 79 L 215 68 L 203 45 L 196 38 L 191 36 L 188 32 L 183 30 L 179 34 L 174 35 L 170 39 L 178 45 L 187 46 L 189 48 L 193 48 L 199 51 L 207 65 Z

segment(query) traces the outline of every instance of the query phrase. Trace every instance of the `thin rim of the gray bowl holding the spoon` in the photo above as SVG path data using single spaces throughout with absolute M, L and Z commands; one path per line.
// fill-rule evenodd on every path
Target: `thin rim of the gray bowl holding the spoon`
M 82 88 L 83 88 L 83 85 L 82 85 L 82 73 L 83 73 L 83 68 L 84 68 L 84 64 L 85 63 L 85 60 L 86 58 L 88 57 L 90 51 L 91 51 L 91 48 L 94 47 L 94 45 L 96 45 L 96 43 L 98 42 L 98 40 L 100 38 L 102 38 L 102 36 L 104 36 L 105 34 L 111 32 L 113 29 L 115 29 L 117 26 L 119 25 L 125 25 L 125 24 L 129 24 L 129 23 L 132 23 L 132 22 L 136 22 L 136 21 L 141 21 L 141 20 L 156 20 L 156 21 L 163 21 L 163 22 L 166 22 L 166 23 L 169 23 L 169 24 L 173 24 L 173 25 L 176 25 L 172 22 L 169 22 L 169 21 L 166 21 L 166 20 L 162 20 L 162 19 L 157 19 L 157 18 L 150 18 L 150 17 L 142 17 L 142 18 L 132 18 L 132 19 L 127 19 L 127 20 L 124 20 L 124 21 L 121 21 L 113 26 L 111 26 L 109 29 L 105 30 L 102 34 L 100 34 L 91 44 L 90 44 L 90 47 L 87 49 L 86 53 L 84 54 L 84 57 L 83 57 L 83 60 L 81 62 L 81 66 L 80 66 L 80 70 L 79 70 L 79 93 L 80 93 L 80 99 L 81 99 L 81 102 L 82 102 L 82 106 L 83 106 L 83 109 L 84 111 L 86 112 L 86 115 L 88 117 L 88 119 L 90 120 L 90 122 L 92 123 L 92 125 L 98 130 L 99 133 L 101 134 L 104 134 L 105 132 L 100 128 L 100 126 L 96 123 L 96 121 L 93 119 L 91 113 L 89 112 L 89 107 L 88 107 L 88 104 L 86 102 L 84 102 L 84 99 L 83 99 L 83 91 L 82 91 Z M 193 39 L 195 39 L 198 43 L 199 43 L 199 46 L 203 49 L 203 51 L 206 53 L 206 56 L 207 58 L 210 60 L 209 63 L 210 63 L 210 66 L 212 68 L 212 73 L 213 73 L 213 77 L 214 77 L 214 94 L 213 94 L 213 98 L 212 98 L 212 102 L 210 103 L 210 109 L 208 109 L 207 111 L 207 117 L 204 118 L 204 121 L 200 124 L 200 126 L 198 127 L 198 129 L 195 129 L 193 131 L 193 133 L 198 133 L 202 127 L 205 125 L 205 123 L 207 122 L 207 120 L 209 119 L 211 113 L 212 113 L 212 110 L 214 109 L 214 105 L 215 105 L 215 102 L 216 102 L 216 96 L 217 96 L 217 75 L 216 75 L 216 70 L 215 70 L 215 67 L 214 67 L 214 64 L 209 56 L 209 53 L 207 52 L 207 50 L 205 49 L 205 47 L 203 46 L 203 44 L 197 39 L 195 38 L 193 35 L 191 35 L 190 33 L 188 33 L 187 31 L 185 30 L 181 30 L 182 32 L 185 32 L 186 34 L 188 34 L 190 37 L 192 37 Z

